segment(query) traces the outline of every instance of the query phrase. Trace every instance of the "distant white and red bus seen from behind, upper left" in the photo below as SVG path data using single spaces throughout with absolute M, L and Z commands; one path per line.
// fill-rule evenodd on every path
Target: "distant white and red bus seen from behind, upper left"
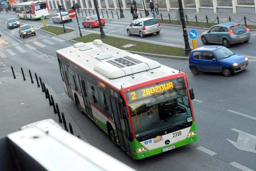
M 27 1 L 14 4 L 15 13 L 19 19 L 40 19 L 41 16 L 50 16 L 46 1 Z

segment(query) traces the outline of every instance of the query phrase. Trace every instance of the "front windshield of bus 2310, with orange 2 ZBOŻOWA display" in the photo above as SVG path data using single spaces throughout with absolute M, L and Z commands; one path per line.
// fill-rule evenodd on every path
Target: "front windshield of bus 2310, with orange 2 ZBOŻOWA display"
M 183 77 L 126 92 L 135 137 L 192 122 Z

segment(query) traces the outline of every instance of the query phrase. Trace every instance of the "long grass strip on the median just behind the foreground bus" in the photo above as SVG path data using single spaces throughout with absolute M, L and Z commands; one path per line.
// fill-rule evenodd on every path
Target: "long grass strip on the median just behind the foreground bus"
M 101 39 L 100 34 L 89 34 L 86 36 L 74 38 L 73 40 L 87 43 L 87 42 L 92 42 L 95 39 Z M 156 45 L 156 44 L 139 42 L 136 40 L 122 39 L 122 38 L 112 37 L 112 36 L 106 36 L 106 38 L 101 40 L 105 44 L 114 46 L 122 50 L 130 50 L 134 52 L 145 52 L 145 53 L 152 53 L 152 54 L 159 54 L 159 55 L 184 56 L 183 48 Z M 133 44 L 136 46 L 129 47 L 129 48 L 122 47 L 127 44 Z

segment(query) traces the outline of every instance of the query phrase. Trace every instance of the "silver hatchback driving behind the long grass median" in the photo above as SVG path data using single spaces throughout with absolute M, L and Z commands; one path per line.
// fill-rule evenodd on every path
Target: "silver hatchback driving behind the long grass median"
M 156 33 L 161 31 L 160 23 L 152 17 L 146 17 L 134 20 L 129 26 L 126 27 L 129 36 L 136 34 L 140 37 L 145 37 L 147 34 Z

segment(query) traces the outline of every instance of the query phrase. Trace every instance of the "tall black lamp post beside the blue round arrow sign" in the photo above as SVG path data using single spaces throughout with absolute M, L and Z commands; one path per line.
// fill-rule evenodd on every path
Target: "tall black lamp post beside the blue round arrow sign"
M 187 34 L 187 29 L 186 29 L 186 24 L 185 24 L 185 19 L 184 19 L 184 12 L 183 12 L 183 6 L 181 0 L 178 0 L 179 2 L 179 9 L 180 9 L 180 17 L 181 17 L 181 23 L 182 23 L 182 29 L 183 29 L 183 37 L 184 37 L 184 42 L 185 42 L 185 50 L 184 50 L 184 55 L 189 55 L 191 52 L 191 48 L 189 46 L 188 42 L 188 34 Z

